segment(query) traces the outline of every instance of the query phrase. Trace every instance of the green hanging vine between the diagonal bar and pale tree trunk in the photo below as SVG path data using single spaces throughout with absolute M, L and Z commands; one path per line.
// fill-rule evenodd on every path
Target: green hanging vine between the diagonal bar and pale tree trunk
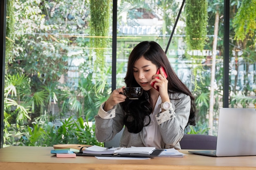
M 187 0 L 185 6 L 185 15 L 186 15 L 186 56 L 194 58 L 195 67 L 193 68 L 193 75 L 195 77 L 194 82 L 194 91 L 200 89 L 198 86 L 197 79 L 203 83 L 202 71 L 203 67 L 201 64 L 201 60 L 205 56 L 198 55 L 198 51 L 202 51 L 204 49 L 204 45 L 206 43 L 206 35 L 207 35 L 207 0 Z M 195 50 L 197 50 L 196 53 Z M 192 55 L 188 55 L 188 51 L 192 52 Z

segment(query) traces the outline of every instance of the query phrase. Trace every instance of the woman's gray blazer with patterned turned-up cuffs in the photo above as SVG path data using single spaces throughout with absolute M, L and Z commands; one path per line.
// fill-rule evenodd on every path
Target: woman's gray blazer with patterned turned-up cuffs
M 182 139 L 184 128 L 189 121 L 191 98 L 183 93 L 169 93 L 169 98 L 173 108 L 173 113 L 170 111 L 170 114 L 173 114 L 173 116 L 170 119 L 161 118 L 162 120 L 158 120 L 162 135 L 161 148 L 181 149 L 179 141 Z M 110 141 L 124 127 L 125 113 L 120 104 L 117 104 L 108 112 L 103 110 L 104 104 L 101 104 L 98 115 L 95 116 L 95 134 L 99 142 Z M 169 112 L 169 110 L 158 114 L 166 115 L 166 112 Z M 139 133 L 130 133 L 125 127 L 120 146 L 145 146 L 144 134 L 144 128 Z

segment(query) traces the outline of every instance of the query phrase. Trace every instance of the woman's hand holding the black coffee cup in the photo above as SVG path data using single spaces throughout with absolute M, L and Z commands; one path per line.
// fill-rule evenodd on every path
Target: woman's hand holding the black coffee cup
M 125 86 L 121 88 L 117 88 L 111 93 L 110 97 L 108 98 L 108 100 L 106 101 L 103 107 L 105 111 L 111 110 L 115 105 L 125 101 L 126 96 L 119 94 L 119 93 L 124 93 L 124 88 Z

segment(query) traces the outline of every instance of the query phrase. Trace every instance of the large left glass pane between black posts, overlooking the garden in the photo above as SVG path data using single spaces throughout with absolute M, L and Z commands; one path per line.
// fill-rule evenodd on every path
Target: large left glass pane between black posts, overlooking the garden
M 9 39 L 15 44 L 6 57 L 6 146 L 98 144 L 86 121 L 94 121 L 111 90 L 112 2 L 11 2 Z M 106 21 L 92 22 L 98 15 Z

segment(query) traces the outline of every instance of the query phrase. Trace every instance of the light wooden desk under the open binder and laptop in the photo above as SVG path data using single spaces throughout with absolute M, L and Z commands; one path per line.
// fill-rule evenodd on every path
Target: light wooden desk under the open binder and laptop
M 0 149 L 0 170 L 256 170 L 256 156 L 154 157 L 148 160 L 99 160 L 95 157 L 57 158 L 53 147 L 9 146 Z

